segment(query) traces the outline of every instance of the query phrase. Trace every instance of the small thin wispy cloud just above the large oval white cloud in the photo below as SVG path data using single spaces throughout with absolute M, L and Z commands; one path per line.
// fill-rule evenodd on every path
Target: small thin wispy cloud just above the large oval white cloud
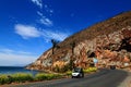
M 39 18 L 39 23 L 44 24 L 46 26 L 51 26 L 52 25 L 52 21 L 50 21 L 48 17 L 44 16 L 44 14 L 39 11 L 37 11 L 37 14 L 40 16 Z

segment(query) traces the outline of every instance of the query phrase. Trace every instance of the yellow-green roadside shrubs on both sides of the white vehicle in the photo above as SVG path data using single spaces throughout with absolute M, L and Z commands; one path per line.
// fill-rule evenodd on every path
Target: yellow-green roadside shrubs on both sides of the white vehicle
M 90 67 L 87 70 L 85 70 L 85 75 L 90 75 L 93 74 L 95 72 L 98 72 L 98 70 L 96 67 Z M 11 75 L 10 78 L 9 76 L 3 76 L 3 80 L 5 79 L 7 82 L 1 83 L 0 84 L 2 86 L 4 85 L 12 85 L 12 84 L 28 84 L 28 83 L 36 83 L 36 82 L 44 82 L 44 80 L 53 80 L 53 79 L 60 79 L 60 78 L 69 78 L 71 77 L 72 72 L 66 72 L 66 73 L 38 73 L 36 75 L 32 75 L 32 74 L 14 74 Z

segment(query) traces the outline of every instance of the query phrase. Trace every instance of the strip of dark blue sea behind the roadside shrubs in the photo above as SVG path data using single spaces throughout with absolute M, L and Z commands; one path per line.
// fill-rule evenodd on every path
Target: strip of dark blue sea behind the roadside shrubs
M 14 74 L 14 73 L 32 73 L 37 74 L 37 71 L 25 70 L 22 66 L 0 66 L 0 74 Z

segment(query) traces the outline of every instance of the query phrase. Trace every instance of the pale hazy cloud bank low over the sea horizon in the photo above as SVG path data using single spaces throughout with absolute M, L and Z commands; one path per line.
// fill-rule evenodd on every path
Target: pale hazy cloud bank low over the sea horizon
M 37 55 L 27 54 L 29 52 L 15 50 L 9 52 L 9 50 L 11 49 L 0 49 L 0 65 L 27 65 L 38 58 Z

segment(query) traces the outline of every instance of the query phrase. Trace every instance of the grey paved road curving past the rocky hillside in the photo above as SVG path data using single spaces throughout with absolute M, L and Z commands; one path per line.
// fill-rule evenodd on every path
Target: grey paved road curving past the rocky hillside
M 102 70 L 84 78 L 63 78 L 10 87 L 118 87 L 127 76 L 128 73 L 123 71 Z

